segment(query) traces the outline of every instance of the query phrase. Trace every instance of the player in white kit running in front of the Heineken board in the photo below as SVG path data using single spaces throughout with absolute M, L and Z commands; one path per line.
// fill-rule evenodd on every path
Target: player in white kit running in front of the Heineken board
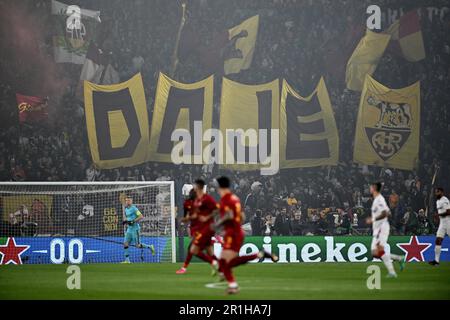
M 390 226 L 388 218 L 391 211 L 389 210 L 386 200 L 381 195 L 381 187 L 382 185 L 380 182 L 372 183 L 370 185 L 370 193 L 373 197 L 372 216 L 367 218 L 366 222 L 372 225 L 372 256 L 383 261 L 384 265 L 388 269 L 389 278 L 396 278 L 397 274 L 395 273 L 392 260 L 400 263 L 400 271 L 403 270 L 405 261 L 403 256 L 389 254 L 384 251 L 389 237 Z

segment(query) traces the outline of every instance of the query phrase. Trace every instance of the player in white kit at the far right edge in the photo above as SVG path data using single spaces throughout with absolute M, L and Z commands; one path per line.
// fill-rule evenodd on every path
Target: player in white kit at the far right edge
M 445 235 L 450 235 L 450 202 L 444 196 L 444 189 L 436 188 L 434 190 L 436 196 L 436 209 L 439 215 L 439 228 L 436 233 L 436 245 L 434 247 L 434 260 L 429 263 L 432 266 L 439 265 L 439 258 L 441 257 L 442 241 Z

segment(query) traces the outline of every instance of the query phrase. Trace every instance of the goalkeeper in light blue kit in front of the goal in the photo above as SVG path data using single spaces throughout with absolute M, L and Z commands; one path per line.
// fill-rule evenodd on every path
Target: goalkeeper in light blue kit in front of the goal
M 128 247 L 131 244 L 135 244 L 137 248 L 150 249 L 152 255 L 155 255 L 155 247 L 152 244 L 147 245 L 141 243 L 139 238 L 139 221 L 141 221 L 143 217 L 144 216 L 139 209 L 133 205 L 133 199 L 130 197 L 125 198 L 125 220 L 123 221 L 123 224 L 127 225 L 127 230 L 125 231 L 125 239 L 123 242 L 125 260 L 122 263 L 131 263 L 130 255 L 128 253 Z

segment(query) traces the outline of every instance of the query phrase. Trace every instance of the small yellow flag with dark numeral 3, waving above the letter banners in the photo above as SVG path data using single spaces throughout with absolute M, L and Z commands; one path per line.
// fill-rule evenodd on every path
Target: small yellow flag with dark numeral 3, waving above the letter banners
M 225 74 L 238 73 L 250 67 L 255 51 L 256 37 L 258 35 L 259 15 L 248 18 L 241 24 L 228 30 L 228 39 L 231 50 L 235 56 L 225 60 Z

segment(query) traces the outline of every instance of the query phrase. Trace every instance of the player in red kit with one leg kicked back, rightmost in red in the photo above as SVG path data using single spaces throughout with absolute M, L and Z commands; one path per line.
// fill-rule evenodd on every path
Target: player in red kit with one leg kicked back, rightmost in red
M 271 258 L 278 261 L 278 257 L 265 251 L 255 254 L 239 256 L 239 249 L 244 242 L 244 231 L 241 223 L 244 214 L 241 210 L 239 198 L 230 190 L 230 180 L 227 177 L 217 178 L 220 194 L 220 219 L 214 224 L 214 228 L 223 227 L 224 244 L 220 256 L 220 271 L 223 272 L 228 282 L 227 293 L 235 294 L 239 292 L 239 286 L 234 278 L 232 269 L 249 261 L 262 258 Z

